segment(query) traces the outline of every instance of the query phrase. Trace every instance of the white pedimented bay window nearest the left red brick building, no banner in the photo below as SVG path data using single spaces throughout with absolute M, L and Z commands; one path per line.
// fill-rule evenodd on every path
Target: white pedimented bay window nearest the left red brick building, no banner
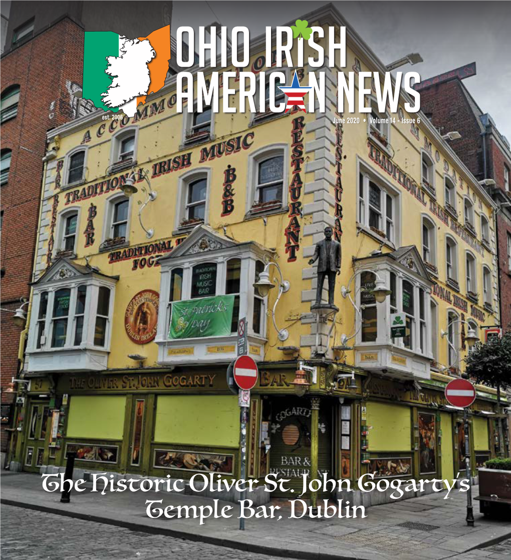
M 106 368 L 115 282 L 67 259 L 43 274 L 34 285 L 31 371 Z

